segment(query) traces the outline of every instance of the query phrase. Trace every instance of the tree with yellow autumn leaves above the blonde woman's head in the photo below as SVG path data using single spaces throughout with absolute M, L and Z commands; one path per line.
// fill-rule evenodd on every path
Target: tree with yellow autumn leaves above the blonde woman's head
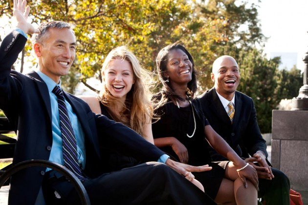
M 4 0 L 1 14 L 12 16 L 12 3 Z M 76 23 L 77 60 L 72 70 L 79 70 L 80 80 L 86 82 L 99 73 L 110 50 L 122 44 L 130 45 L 146 67 L 154 70 L 157 52 L 176 27 L 189 20 L 192 3 L 186 0 L 32 0 L 28 5 L 34 23 L 52 20 Z

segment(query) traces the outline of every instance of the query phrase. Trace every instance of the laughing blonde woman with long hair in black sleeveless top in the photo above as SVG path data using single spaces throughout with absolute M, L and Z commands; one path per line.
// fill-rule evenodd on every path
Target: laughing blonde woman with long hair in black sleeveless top
M 94 113 L 132 128 L 144 139 L 154 144 L 151 119 L 153 106 L 150 99 L 149 73 L 143 69 L 136 56 L 126 46 L 110 51 L 102 67 L 102 89 L 98 96 L 79 96 L 88 102 Z M 150 85 L 150 83 L 149 83 Z M 131 167 L 141 162 L 101 148 L 104 162 L 109 162 L 106 171 Z

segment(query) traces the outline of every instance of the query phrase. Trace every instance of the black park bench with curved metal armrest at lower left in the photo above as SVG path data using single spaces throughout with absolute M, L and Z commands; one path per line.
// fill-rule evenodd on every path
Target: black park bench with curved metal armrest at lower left
M 0 141 L 4 142 L 0 144 L 0 159 L 10 159 L 14 157 L 14 149 L 16 139 L 7 137 L 6 135 L 10 132 L 14 132 L 13 127 L 10 125 L 9 121 L 5 117 L 0 117 Z M 16 172 L 22 171 L 28 167 L 33 166 L 43 166 L 54 169 L 55 171 L 63 174 L 75 187 L 79 194 L 82 205 L 90 205 L 90 200 L 88 198 L 88 193 L 84 185 L 79 181 L 79 179 L 65 166 L 45 160 L 28 160 L 18 164 L 9 164 L 0 170 L 0 188 L 3 185 L 9 185 L 9 178 Z

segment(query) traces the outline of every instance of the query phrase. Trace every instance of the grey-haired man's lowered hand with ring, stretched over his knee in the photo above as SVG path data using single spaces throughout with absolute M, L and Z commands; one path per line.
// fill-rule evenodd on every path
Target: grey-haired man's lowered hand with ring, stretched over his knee
M 171 159 L 168 159 L 165 164 L 174 169 L 177 173 L 183 175 L 189 181 L 192 181 L 195 178 L 195 176 L 191 172 L 209 171 L 212 169 L 212 166 L 209 166 L 207 164 L 203 166 L 192 166 L 188 164 L 178 163 Z

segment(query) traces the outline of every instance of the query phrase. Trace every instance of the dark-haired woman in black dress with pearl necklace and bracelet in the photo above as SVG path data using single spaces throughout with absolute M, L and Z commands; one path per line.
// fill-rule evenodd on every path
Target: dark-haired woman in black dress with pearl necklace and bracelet
M 163 87 L 154 96 L 160 118 L 152 124 L 155 145 L 182 163 L 212 166 L 194 174 L 216 203 L 257 204 L 256 170 L 212 129 L 195 98 L 197 76 L 190 53 L 177 42 L 170 44 L 160 50 L 156 65 Z M 208 144 L 231 161 L 225 170 L 211 162 Z

